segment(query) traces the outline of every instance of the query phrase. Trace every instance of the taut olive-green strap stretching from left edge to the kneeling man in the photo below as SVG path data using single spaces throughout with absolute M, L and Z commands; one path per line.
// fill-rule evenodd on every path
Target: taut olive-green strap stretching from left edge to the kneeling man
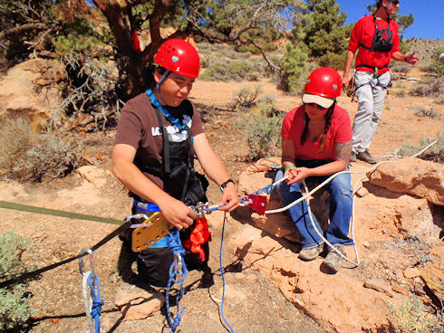
M 125 223 L 125 221 L 114 220 L 114 219 L 106 218 L 106 217 L 87 215 L 87 214 L 77 214 L 77 213 L 72 213 L 72 212 L 64 212 L 64 211 L 59 211 L 56 209 L 35 207 L 32 205 L 21 205 L 21 204 L 15 204 L 15 203 L 8 203 L 6 201 L 0 201 L 0 208 L 12 209 L 15 211 L 22 211 L 22 212 L 30 212 L 30 213 L 37 213 L 37 214 L 67 217 L 67 218 L 76 219 L 76 220 L 95 221 L 95 222 L 101 222 L 102 224 L 124 224 Z

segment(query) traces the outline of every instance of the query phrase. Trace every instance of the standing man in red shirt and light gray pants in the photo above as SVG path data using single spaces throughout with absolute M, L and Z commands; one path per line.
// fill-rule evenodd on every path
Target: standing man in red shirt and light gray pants
M 415 64 L 419 58 L 412 52 L 400 52 L 398 24 L 391 20 L 399 8 L 399 0 L 378 0 L 374 14 L 363 16 L 354 25 L 343 70 L 343 87 L 350 82 L 350 69 L 356 56 L 354 80 L 359 108 L 353 120 L 352 161 L 356 158 L 377 163 L 369 147 L 378 127 L 387 87 L 391 82 L 391 59 Z

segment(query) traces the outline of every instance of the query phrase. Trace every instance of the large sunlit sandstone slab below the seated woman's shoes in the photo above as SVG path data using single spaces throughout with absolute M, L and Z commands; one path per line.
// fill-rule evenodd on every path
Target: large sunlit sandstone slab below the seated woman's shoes
M 249 241 L 244 250 L 246 266 L 268 275 L 285 298 L 329 332 L 376 331 L 388 325 L 389 301 L 401 301 L 390 286 L 381 283 L 381 292 L 364 288 L 345 269 L 323 274 L 321 259 L 302 262 L 294 248 L 268 236 Z

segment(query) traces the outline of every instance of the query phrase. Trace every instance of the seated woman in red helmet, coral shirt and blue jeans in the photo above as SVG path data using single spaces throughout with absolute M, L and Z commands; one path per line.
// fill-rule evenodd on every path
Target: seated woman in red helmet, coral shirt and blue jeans
M 314 70 L 305 84 L 304 104 L 292 109 L 282 125 L 282 166 L 275 181 L 285 205 L 302 197 L 300 186 L 307 177 L 323 181 L 328 176 L 346 170 L 352 153 L 352 125 L 348 113 L 336 105 L 341 95 L 341 75 L 328 67 Z M 325 239 L 339 252 L 353 245 L 348 237 L 352 217 L 352 184 L 349 173 L 335 176 L 327 185 L 331 195 L 330 225 Z M 313 224 L 305 201 L 288 210 L 301 235 L 299 258 L 312 261 L 323 251 L 322 229 L 313 216 Z M 323 261 L 331 271 L 341 267 L 342 257 L 328 249 Z

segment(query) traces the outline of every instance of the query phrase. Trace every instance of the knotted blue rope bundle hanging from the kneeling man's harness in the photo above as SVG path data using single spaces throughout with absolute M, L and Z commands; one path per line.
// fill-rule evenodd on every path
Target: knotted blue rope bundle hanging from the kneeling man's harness
M 171 266 L 169 266 L 169 281 L 167 285 L 166 304 L 167 304 L 168 324 L 169 327 L 171 328 L 171 332 L 174 332 L 176 328 L 179 327 L 180 319 L 182 317 L 182 312 L 186 308 L 183 307 L 182 309 L 179 309 L 179 300 L 182 298 L 184 291 L 183 282 L 187 277 L 187 266 L 185 265 L 185 262 L 183 260 L 183 255 L 185 254 L 185 250 L 182 246 L 182 243 L 180 242 L 178 228 L 172 228 L 169 231 L 168 247 L 174 253 L 175 257 L 180 258 L 182 262 L 182 271 L 181 271 L 182 279 L 180 279 L 179 281 L 175 279 L 175 276 L 179 273 L 178 268 L 176 267 L 176 261 L 171 263 Z M 178 313 L 175 319 L 172 319 L 171 313 L 169 312 L 169 289 L 171 288 L 172 282 L 180 284 L 180 290 L 176 295 L 176 307 Z

